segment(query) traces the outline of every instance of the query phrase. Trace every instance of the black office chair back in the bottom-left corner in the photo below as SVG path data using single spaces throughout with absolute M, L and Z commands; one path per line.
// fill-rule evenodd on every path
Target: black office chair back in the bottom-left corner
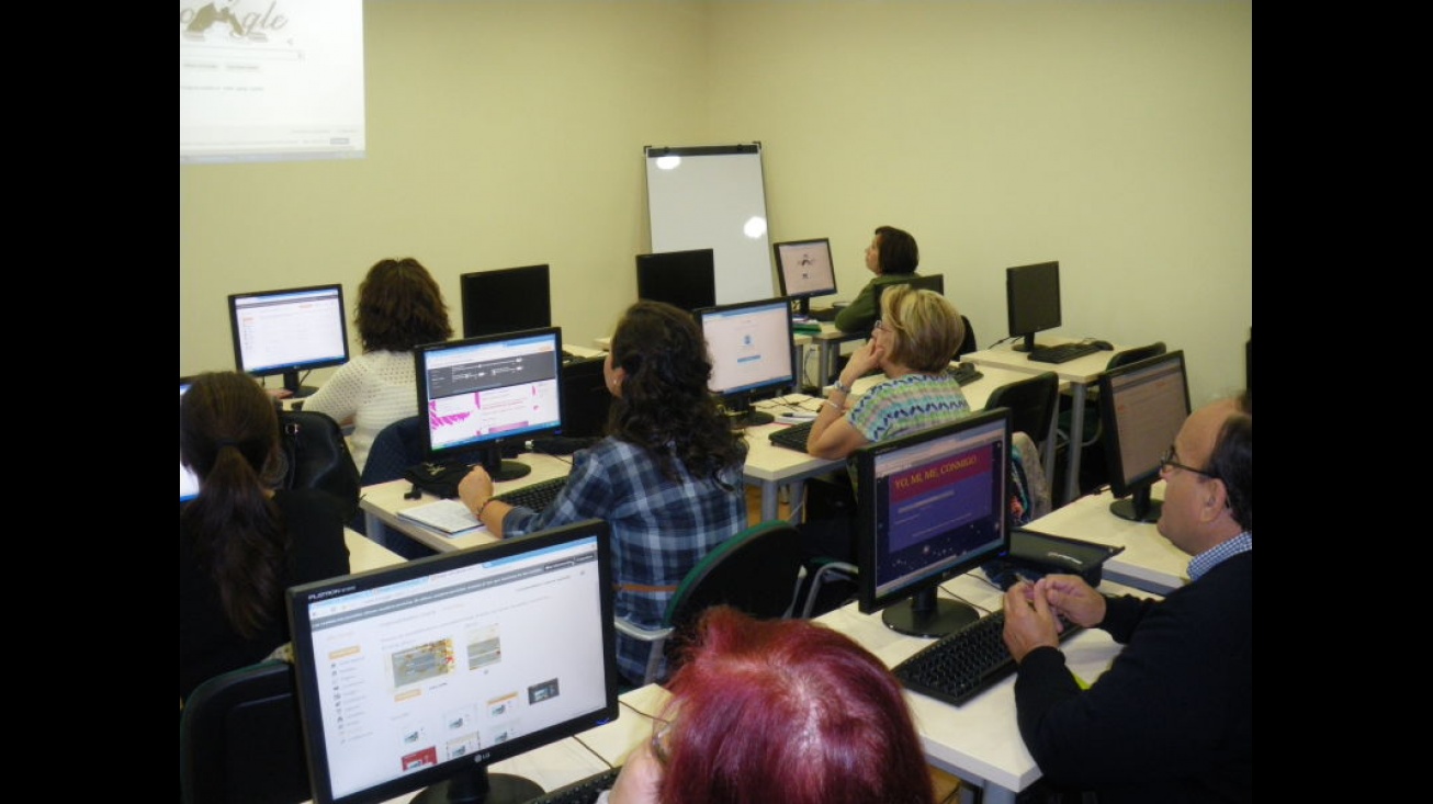
M 294 668 L 268 659 L 216 675 L 179 712 L 181 804 L 312 798 Z

